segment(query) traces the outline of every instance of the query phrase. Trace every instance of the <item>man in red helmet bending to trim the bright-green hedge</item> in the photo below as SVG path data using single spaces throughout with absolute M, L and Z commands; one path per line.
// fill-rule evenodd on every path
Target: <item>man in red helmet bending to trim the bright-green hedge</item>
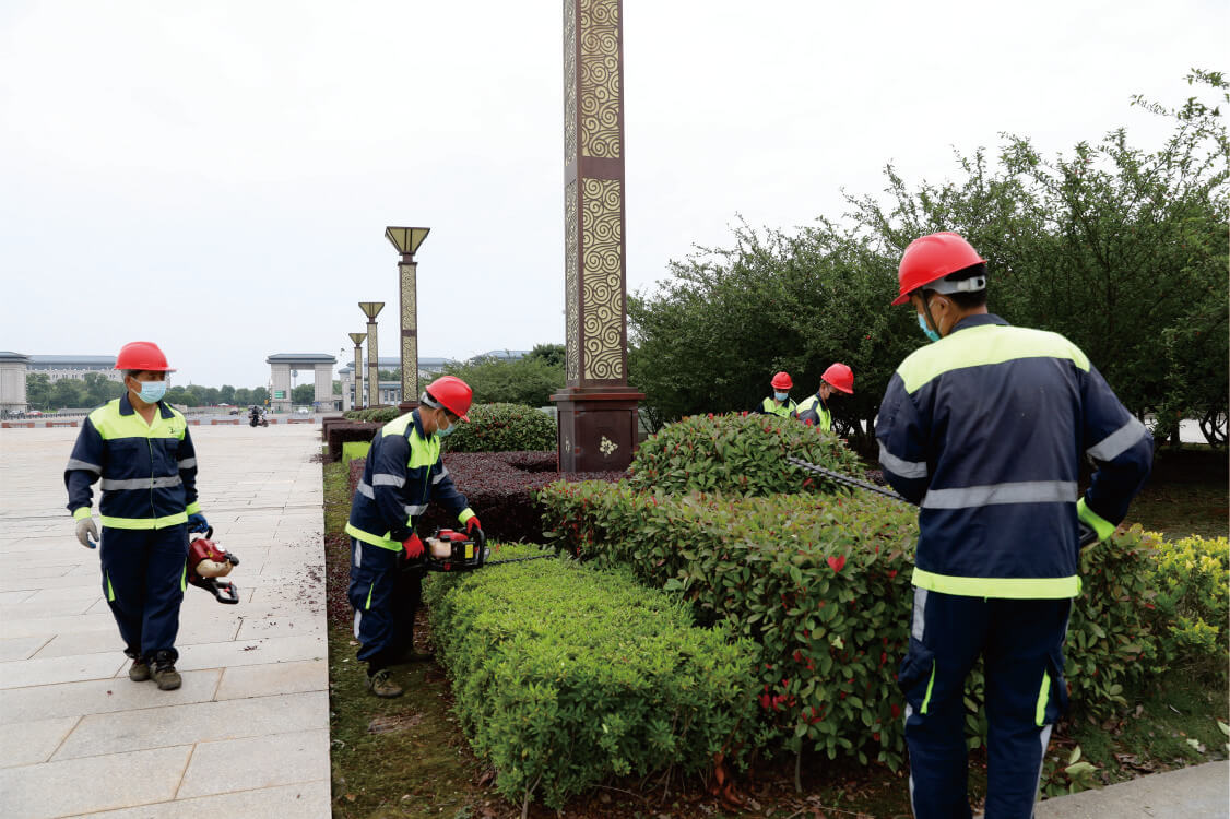
M 358 658 L 368 664 L 368 690 L 397 697 L 402 687 L 389 669 L 429 659 L 415 651 L 415 611 L 422 598 L 423 541 L 415 521 L 432 501 L 458 516 L 471 536 L 482 524 L 465 496 L 453 486 L 440 455 L 442 439 L 470 418 L 474 392 L 461 379 L 432 381 L 419 406 L 390 421 L 368 450 L 363 480 L 351 504 L 349 600 L 354 609 Z

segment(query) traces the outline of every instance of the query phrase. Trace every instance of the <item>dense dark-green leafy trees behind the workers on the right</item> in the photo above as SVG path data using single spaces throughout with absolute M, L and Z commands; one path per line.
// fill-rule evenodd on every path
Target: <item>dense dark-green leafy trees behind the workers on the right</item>
M 1223 103 L 1228 85 L 1194 71 Z M 863 451 L 868 424 L 900 359 L 922 336 L 897 294 L 897 262 L 918 236 L 961 232 L 989 261 L 990 307 L 1009 321 L 1076 342 L 1159 434 L 1182 417 L 1225 423 L 1230 354 L 1226 130 L 1219 106 L 1177 109 L 1134 101 L 1175 121 L 1166 144 L 1143 151 L 1123 129 L 1070 155 L 1043 159 L 1009 135 L 996 161 L 957 156 L 956 181 L 916 187 L 889 166 L 886 196 L 847 197 L 840 221 L 793 234 L 740 225 L 729 248 L 672 263 L 658 293 L 629 300 L 630 375 L 646 416 L 750 408 L 785 369 L 796 398 L 841 360 L 855 396 L 834 405 Z M 1224 428 L 1224 427 L 1223 427 Z

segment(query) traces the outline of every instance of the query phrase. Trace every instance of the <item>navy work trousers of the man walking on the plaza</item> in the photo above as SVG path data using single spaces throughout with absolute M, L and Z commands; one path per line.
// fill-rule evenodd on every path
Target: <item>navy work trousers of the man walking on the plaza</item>
M 188 564 L 188 529 L 102 528 L 102 593 L 124 639 L 124 653 L 153 660 L 178 658 L 180 604 Z

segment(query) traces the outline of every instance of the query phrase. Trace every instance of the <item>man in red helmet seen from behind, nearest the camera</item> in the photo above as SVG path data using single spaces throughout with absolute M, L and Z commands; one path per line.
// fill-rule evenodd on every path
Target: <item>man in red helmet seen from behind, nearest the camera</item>
M 1028 819 L 1068 706 L 1079 542 L 1114 532 L 1153 441 L 1075 344 L 986 311 L 986 262 L 957 234 L 911 242 L 898 280 L 893 304 L 908 301 L 935 342 L 897 368 L 876 422 L 884 477 L 919 504 L 898 673 L 914 815 L 970 815 L 963 691 L 982 655 L 986 817 Z M 1082 456 L 1096 472 L 1077 499 Z

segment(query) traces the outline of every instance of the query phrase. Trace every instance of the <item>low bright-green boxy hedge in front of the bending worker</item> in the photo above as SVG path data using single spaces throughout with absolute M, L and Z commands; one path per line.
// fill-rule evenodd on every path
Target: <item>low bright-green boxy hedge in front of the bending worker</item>
M 460 724 L 509 799 L 558 809 L 611 776 L 738 755 L 752 648 L 694 626 L 678 595 L 560 560 L 432 574 L 423 594 Z

